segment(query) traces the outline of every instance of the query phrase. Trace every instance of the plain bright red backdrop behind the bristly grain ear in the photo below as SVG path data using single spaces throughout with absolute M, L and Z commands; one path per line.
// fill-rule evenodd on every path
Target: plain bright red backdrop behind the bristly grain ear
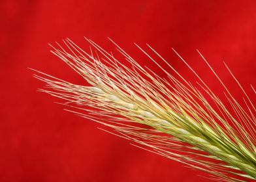
M 238 3 L 240 2 L 240 3 Z M 200 49 L 231 92 L 238 86 L 223 60 L 253 97 L 255 1 L 1 1 L 0 181 L 208 181 L 190 168 L 104 133 L 97 123 L 63 111 L 33 79 L 35 68 L 73 83 L 82 79 L 49 50 L 83 36 L 108 50 L 112 38 L 140 57 L 133 42 L 148 43 L 190 77 L 174 47 L 216 92 L 222 88 L 195 49 Z M 150 64 L 148 60 L 138 60 Z M 161 72 L 156 71 L 161 74 Z

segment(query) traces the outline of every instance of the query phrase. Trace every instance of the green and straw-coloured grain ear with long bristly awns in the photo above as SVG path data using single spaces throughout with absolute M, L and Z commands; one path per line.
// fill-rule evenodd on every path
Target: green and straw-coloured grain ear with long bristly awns
M 114 128 L 114 135 L 133 140 L 140 148 L 209 172 L 212 179 L 256 179 L 255 107 L 237 80 L 246 96 L 246 109 L 217 77 L 227 92 L 231 112 L 178 53 L 198 77 L 204 93 L 186 81 L 149 45 L 177 77 L 168 73 L 138 45 L 167 74 L 168 81 L 140 66 L 114 42 L 131 63 L 131 68 L 91 40 L 88 42 L 97 50 L 95 55 L 93 51 L 86 53 L 69 39 L 64 41 L 69 52 L 58 44 L 59 48 L 53 47 L 52 53 L 84 77 L 90 86 L 74 85 L 37 71 L 44 76 L 35 77 L 48 86 L 42 92 L 65 99 L 64 104 L 73 108 L 69 111 Z M 206 62 L 204 57 L 202 59 Z M 214 70 L 212 72 L 216 74 Z

